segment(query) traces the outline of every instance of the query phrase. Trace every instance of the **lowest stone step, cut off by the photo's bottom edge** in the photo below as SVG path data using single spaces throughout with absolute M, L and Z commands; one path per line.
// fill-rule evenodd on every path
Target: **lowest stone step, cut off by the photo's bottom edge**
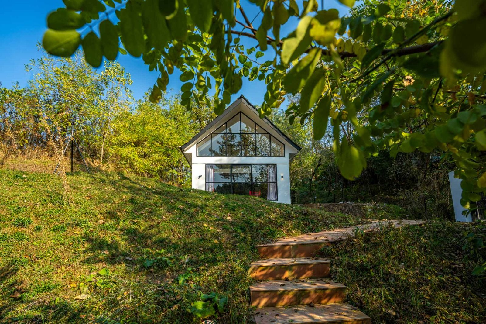
M 255 310 L 256 324 L 371 324 L 371 319 L 347 303 L 260 307 Z

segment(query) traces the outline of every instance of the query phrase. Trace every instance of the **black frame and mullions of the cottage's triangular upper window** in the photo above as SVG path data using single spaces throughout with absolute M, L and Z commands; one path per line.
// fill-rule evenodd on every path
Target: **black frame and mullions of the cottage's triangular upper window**
M 253 123 L 255 123 L 255 126 L 253 127 L 255 129 L 254 132 L 242 132 L 242 114 L 245 115 L 246 118 L 248 118 L 249 120 L 251 120 Z M 235 133 L 235 132 L 231 132 L 229 133 L 228 132 L 228 122 L 230 120 L 232 120 L 233 118 L 235 118 L 237 115 L 240 115 L 240 132 L 239 133 Z M 278 157 L 278 158 L 282 158 L 282 157 L 285 157 L 285 144 L 282 143 L 282 141 L 278 140 L 278 138 L 276 138 L 275 136 L 273 136 L 272 134 L 270 134 L 269 132 L 267 132 L 263 127 L 261 127 L 259 124 L 257 124 L 257 122 L 255 122 L 252 118 L 248 117 L 248 115 L 246 115 L 244 112 L 240 111 L 238 112 L 237 114 L 233 115 L 231 118 L 229 118 L 223 125 L 219 126 L 217 129 L 221 128 L 222 126 L 225 126 L 225 132 L 212 132 L 211 134 L 209 134 L 208 136 L 206 136 L 205 138 L 203 138 L 201 141 L 197 142 L 196 143 L 196 156 L 201 156 L 201 157 L 221 157 L 221 156 L 225 156 L 225 157 Z M 257 126 L 259 126 L 262 130 L 264 130 L 264 132 L 257 132 Z M 212 149 L 212 136 L 213 134 L 226 134 L 226 139 L 225 139 L 225 152 L 226 152 L 226 155 L 213 155 L 213 149 Z M 240 135 L 240 155 L 228 155 L 228 136 L 227 134 L 239 134 Z M 242 144 L 242 137 L 243 137 L 243 134 L 250 134 L 250 135 L 254 135 L 255 136 L 255 149 L 253 150 L 254 154 L 255 155 L 243 155 L 243 144 Z M 266 155 L 257 155 L 257 134 L 265 134 L 265 135 L 268 135 L 268 139 L 269 139 L 269 145 L 270 145 L 270 152 L 269 152 L 269 155 L 266 156 Z M 211 155 L 199 155 L 199 151 L 197 149 L 198 145 L 203 142 L 204 140 L 208 139 L 209 137 L 209 143 L 211 144 L 210 147 L 209 147 L 209 152 L 211 153 Z M 274 139 L 276 142 L 282 144 L 283 146 L 283 155 L 272 155 L 272 139 Z

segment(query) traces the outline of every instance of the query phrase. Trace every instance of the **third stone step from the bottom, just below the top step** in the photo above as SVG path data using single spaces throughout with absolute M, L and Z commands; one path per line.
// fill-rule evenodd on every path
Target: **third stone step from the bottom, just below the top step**
M 272 258 L 250 264 L 250 276 L 257 280 L 329 277 L 330 260 L 324 258 Z

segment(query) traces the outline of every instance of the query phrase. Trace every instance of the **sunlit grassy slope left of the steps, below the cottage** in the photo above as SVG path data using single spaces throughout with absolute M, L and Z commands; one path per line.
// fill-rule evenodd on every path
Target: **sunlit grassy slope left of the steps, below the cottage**
M 59 177 L 0 170 L 0 322 L 191 323 L 214 292 L 218 323 L 248 323 L 255 245 L 362 223 L 117 173 L 68 180 L 70 203 Z

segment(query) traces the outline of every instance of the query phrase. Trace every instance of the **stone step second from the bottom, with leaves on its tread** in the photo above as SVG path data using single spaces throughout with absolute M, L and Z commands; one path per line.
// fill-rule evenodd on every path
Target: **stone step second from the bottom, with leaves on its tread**
M 257 307 L 339 303 L 346 286 L 325 278 L 264 281 L 250 286 L 250 299 Z

